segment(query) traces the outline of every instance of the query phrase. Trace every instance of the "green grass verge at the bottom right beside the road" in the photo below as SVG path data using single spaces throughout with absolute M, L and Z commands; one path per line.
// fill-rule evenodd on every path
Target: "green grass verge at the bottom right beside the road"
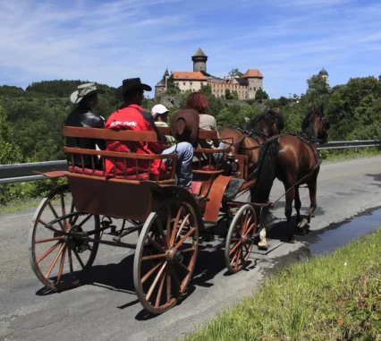
M 381 228 L 278 270 L 183 340 L 381 340 L 380 264 Z

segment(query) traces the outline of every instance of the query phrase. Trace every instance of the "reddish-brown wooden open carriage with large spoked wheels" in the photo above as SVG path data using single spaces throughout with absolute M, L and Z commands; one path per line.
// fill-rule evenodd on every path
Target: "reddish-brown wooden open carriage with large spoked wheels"
M 162 132 L 169 133 L 165 128 Z M 157 141 L 155 132 L 94 128 L 65 127 L 64 135 L 109 141 Z M 217 139 L 217 135 L 200 130 L 199 139 Z M 230 159 L 230 149 L 194 149 L 196 154 L 207 155 L 207 163 L 195 164 L 190 193 L 175 184 L 176 154 L 65 148 L 69 170 L 46 175 L 65 176 L 67 184 L 55 188 L 41 201 L 30 230 L 30 262 L 39 280 L 55 290 L 77 286 L 91 268 L 99 244 L 135 249 L 136 294 L 147 311 L 162 313 L 173 307 L 187 289 L 195 268 L 199 237 L 215 234 L 213 226 L 223 220 L 230 223 L 222 235 L 226 268 L 233 273 L 243 269 L 258 235 L 255 208 L 261 212 L 271 203 L 236 200 L 242 192 L 252 189 L 256 177 L 249 173 L 248 156 L 237 154 Z M 224 159 L 214 161 L 212 154 L 216 153 L 224 153 Z M 90 159 L 90 167 L 85 166 L 85 159 Z M 106 174 L 106 159 L 114 165 L 122 160 L 124 174 Z M 165 159 L 167 163 L 171 160 L 165 174 L 152 174 L 150 166 L 145 173 L 127 172 L 131 162 L 139 169 L 140 160 L 150 164 Z M 99 163 L 101 169 L 97 168 Z M 121 219 L 122 226 L 116 229 L 111 219 Z M 102 239 L 107 230 L 115 234 L 112 240 Z M 134 232 L 139 238 L 131 243 Z

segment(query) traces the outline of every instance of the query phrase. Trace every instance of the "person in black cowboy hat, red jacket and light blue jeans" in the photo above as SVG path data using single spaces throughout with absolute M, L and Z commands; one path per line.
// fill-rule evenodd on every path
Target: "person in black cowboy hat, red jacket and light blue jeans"
M 144 98 L 144 91 L 151 91 L 152 88 L 143 84 L 140 78 L 130 78 L 123 81 L 123 85 L 116 90 L 116 97 L 123 98 L 123 105 L 113 114 L 111 114 L 106 122 L 106 129 L 114 130 L 132 130 L 143 132 L 156 132 L 157 142 L 123 142 L 123 141 L 106 141 L 106 150 L 135 152 L 138 154 L 177 154 L 176 175 L 177 184 L 190 189 L 192 180 L 191 162 L 193 158 L 193 148 L 188 142 L 182 142 L 174 145 L 169 149 L 162 149 L 163 136 L 157 130 L 154 118 L 147 113 L 141 106 Z M 136 174 L 136 160 L 128 159 L 126 161 L 127 175 Z M 149 162 L 149 160 L 139 160 L 139 168 L 141 172 L 147 172 L 150 166 L 150 172 L 153 175 L 161 175 L 165 172 L 165 162 L 159 159 Z M 116 175 L 124 175 L 123 160 L 116 161 Z M 114 173 L 114 164 L 111 160 L 106 159 L 106 173 Z

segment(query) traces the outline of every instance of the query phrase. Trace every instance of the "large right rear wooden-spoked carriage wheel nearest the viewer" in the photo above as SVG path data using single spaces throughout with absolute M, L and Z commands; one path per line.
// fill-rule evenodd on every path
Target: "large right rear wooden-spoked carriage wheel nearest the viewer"
M 172 308 L 185 292 L 196 264 L 199 226 L 192 206 L 165 200 L 144 224 L 133 263 L 140 303 L 158 314 Z

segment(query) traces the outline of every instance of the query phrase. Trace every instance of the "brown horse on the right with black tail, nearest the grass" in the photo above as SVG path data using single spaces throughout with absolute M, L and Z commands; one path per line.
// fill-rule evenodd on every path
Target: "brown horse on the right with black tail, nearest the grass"
M 327 141 L 329 123 L 326 117 L 312 109 L 302 123 L 301 136 L 283 135 L 269 141 L 259 155 L 259 174 L 256 186 L 251 190 L 252 202 L 267 203 L 275 177 L 284 183 L 288 240 L 295 242 L 291 230 L 292 201 L 295 200 L 298 230 L 305 234 L 306 226 L 317 208 L 317 181 L 320 169 L 318 141 Z M 306 183 L 309 188 L 309 216 L 301 221 L 301 199 L 299 186 Z M 267 249 L 266 226 L 259 234 L 259 248 Z

